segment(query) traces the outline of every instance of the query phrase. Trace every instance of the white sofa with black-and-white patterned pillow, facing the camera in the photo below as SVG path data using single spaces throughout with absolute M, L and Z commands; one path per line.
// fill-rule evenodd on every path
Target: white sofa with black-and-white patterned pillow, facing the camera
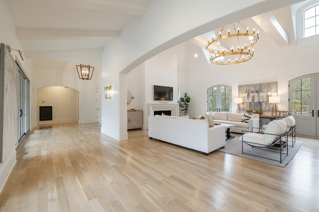
M 228 113 L 228 112 L 212 112 L 214 122 L 233 124 L 236 127 L 230 128 L 232 133 L 242 133 L 242 131 L 258 132 L 259 128 L 259 114 L 252 114 L 251 119 L 247 120 L 248 123 L 242 122 L 244 113 Z

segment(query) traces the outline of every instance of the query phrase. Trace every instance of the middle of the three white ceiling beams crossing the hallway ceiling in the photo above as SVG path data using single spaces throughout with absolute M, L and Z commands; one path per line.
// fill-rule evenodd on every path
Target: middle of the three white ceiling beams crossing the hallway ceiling
M 54 40 L 65 38 L 118 38 L 120 31 L 109 30 L 84 30 L 84 29 L 34 29 L 20 28 L 15 29 L 16 37 L 20 40 Z

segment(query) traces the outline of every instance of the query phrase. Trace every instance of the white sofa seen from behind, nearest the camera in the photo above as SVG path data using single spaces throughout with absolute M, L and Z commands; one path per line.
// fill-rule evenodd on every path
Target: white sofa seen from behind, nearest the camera
M 149 116 L 149 137 L 208 155 L 224 147 L 225 127 L 209 128 L 207 120 L 193 120 L 176 116 Z

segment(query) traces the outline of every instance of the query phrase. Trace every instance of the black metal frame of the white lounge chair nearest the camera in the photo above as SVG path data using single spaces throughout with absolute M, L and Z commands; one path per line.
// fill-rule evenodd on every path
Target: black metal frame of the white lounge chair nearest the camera
M 255 129 L 259 129 L 259 128 L 255 128 Z M 253 131 L 253 129 L 252 129 L 252 131 Z M 288 156 L 288 132 L 286 131 L 280 135 L 267 134 L 267 135 L 277 136 L 277 138 L 271 144 L 266 145 L 266 144 L 254 143 L 254 142 L 249 142 L 249 141 L 243 141 L 243 138 L 244 138 L 243 135 L 245 135 L 246 133 L 254 133 L 252 131 L 242 131 L 242 137 L 241 137 L 242 138 L 242 154 L 249 154 L 249 155 L 253 155 L 253 156 L 257 156 L 257 157 L 262 157 L 262 156 L 257 155 L 257 154 L 250 154 L 250 153 L 244 152 L 244 143 L 246 143 L 247 145 L 251 146 L 252 148 L 256 148 L 256 149 L 260 149 L 260 150 L 264 150 L 264 151 L 271 151 L 271 152 L 275 152 L 275 153 L 280 153 L 280 160 L 275 160 L 275 159 L 271 159 L 271 158 L 267 158 L 267 157 L 262 157 L 262 158 L 266 158 L 269 160 L 275 160 L 275 161 L 282 163 L 283 160 Z M 261 131 L 261 129 L 259 129 L 258 132 L 259 132 L 259 134 L 265 134 L 265 133 L 261 133 L 261 132 L 263 132 L 263 131 Z M 277 147 L 280 149 L 280 151 L 266 149 L 267 147 Z M 286 152 L 283 152 L 283 148 L 285 148 L 285 147 L 286 147 Z

